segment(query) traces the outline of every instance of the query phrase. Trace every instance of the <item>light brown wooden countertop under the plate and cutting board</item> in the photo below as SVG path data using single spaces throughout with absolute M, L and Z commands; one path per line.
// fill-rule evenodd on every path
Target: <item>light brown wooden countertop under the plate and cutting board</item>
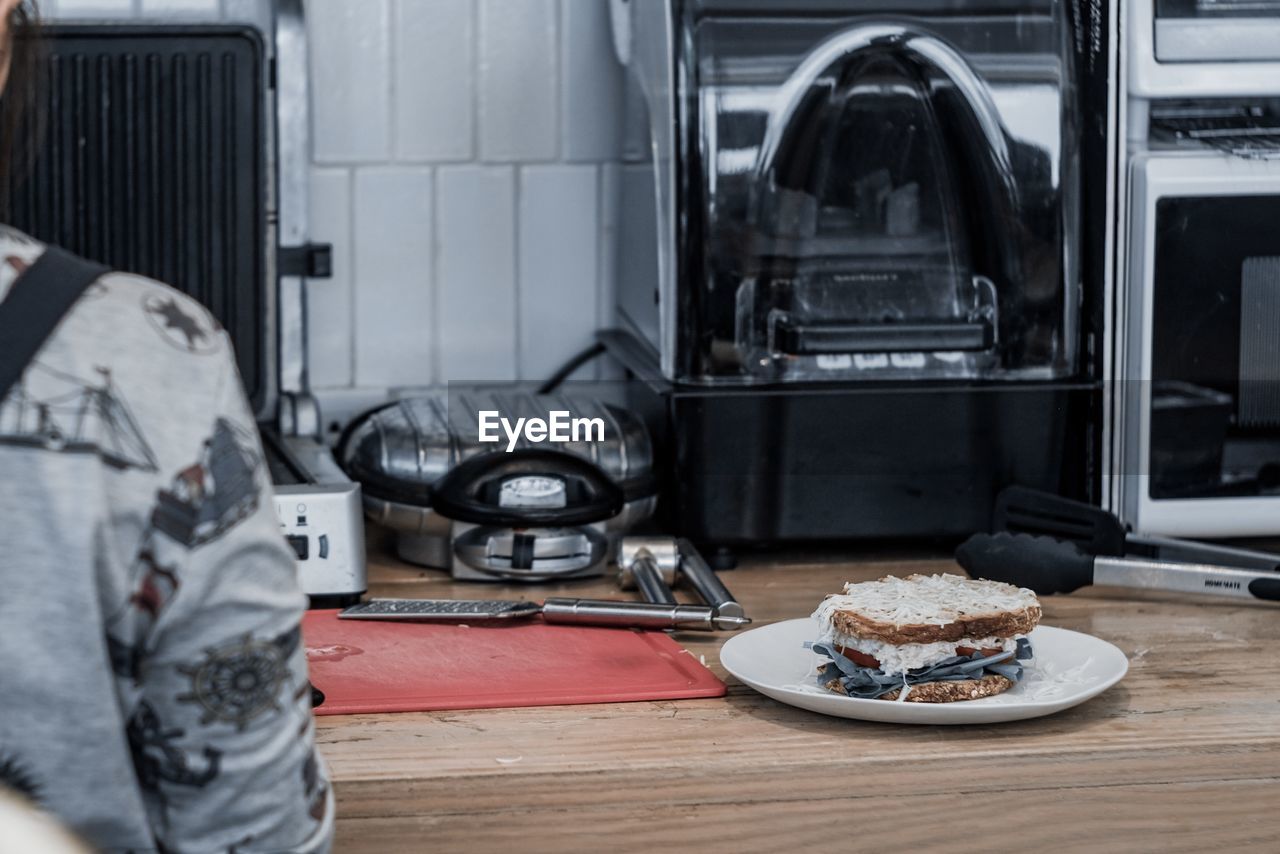
M 808 615 L 846 580 L 948 568 L 845 553 L 745 560 L 724 580 L 768 622 Z M 476 597 L 389 557 L 370 571 L 374 595 Z M 484 590 L 614 594 L 604 581 Z M 724 673 L 728 635 L 695 632 L 677 640 L 727 698 L 317 718 L 335 850 L 1276 850 L 1280 609 L 1103 589 L 1043 604 L 1046 625 L 1115 643 L 1130 670 L 1033 721 L 803 712 Z

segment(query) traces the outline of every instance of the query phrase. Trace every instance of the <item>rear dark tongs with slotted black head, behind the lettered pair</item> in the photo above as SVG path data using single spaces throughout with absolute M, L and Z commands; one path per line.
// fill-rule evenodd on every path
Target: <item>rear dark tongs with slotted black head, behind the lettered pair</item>
M 1085 553 L 1098 557 L 1280 571 L 1280 554 L 1172 536 L 1132 534 L 1115 513 L 1101 507 L 1025 487 L 1006 487 L 1000 492 L 996 497 L 992 530 L 1068 540 Z

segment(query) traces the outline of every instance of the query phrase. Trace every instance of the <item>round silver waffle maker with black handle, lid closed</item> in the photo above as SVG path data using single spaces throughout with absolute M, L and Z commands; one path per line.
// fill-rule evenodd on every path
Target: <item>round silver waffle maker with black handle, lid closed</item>
M 480 442 L 483 412 L 598 421 L 593 438 Z M 370 519 L 396 531 L 401 558 L 471 581 L 603 574 L 617 539 L 655 498 L 653 451 L 628 410 L 585 396 L 451 389 L 352 421 L 338 446 Z

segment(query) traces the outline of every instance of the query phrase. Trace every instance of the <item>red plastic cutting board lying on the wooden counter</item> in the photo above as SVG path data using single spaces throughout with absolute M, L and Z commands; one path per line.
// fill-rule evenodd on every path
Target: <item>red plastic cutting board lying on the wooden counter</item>
M 428 712 L 723 697 L 724 684 L 660 631 L 302 621 L 316 714 Z

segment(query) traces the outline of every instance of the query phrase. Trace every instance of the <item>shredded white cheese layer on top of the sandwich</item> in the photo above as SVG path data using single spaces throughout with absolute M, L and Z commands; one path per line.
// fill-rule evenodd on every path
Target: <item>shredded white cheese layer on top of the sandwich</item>
M 835 636 L 832 617 L 854 611 L 893 626 L 945 626 L 960 618 L 1020 611 L 1039 600 L 1027 588 L 961 575 L 886 576 L 878 581 L 846 584 L 844 594 L 827 597 L 813 613 L 822 639 Z

